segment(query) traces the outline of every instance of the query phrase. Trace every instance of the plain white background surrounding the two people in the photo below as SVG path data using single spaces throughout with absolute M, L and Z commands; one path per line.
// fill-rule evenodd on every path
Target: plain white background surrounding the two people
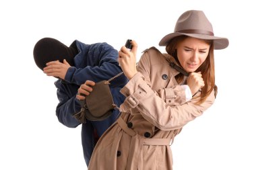
M 67 46 L 108 42 L 117 50 L 130 38 L 140 52 L 158 46 L 189 9 L 203 10 L 216 36 L 216 102 L 187 124 L 172 144 L 174 170 L 256 169 L 255 15 L 253 1 L 1 1 L 0 169 L 86 169 L 81 126 L 55 116 L 55 78 L 34 63 L 40 38 Z M 253 89 L 254 88 L 254 89 Z

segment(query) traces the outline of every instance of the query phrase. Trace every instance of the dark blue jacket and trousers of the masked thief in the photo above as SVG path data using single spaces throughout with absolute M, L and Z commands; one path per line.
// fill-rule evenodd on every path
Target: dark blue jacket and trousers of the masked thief
M 79 52 L 74 58 L 75 66 L 68 69 L 65 80 L 58 79 L 55 82 L 59 99 L 56 114 L 59 122 L 69 128 L 75 128 L 81 124 L 72 116 L 81 110 L 79 100 L 75 98 L 80 85 L 85 83 L 86 80 L 94 82 L 108 80 L 122 72 L 117 62 L 118 52 L 109 44 L 84 44 L 78 40 L 75 40 L 75 42 Z M 125 75 L 121 75 L 110 83 L 113 101 L 119 106 L 125 99 L 119 91 L 127 83 L 127 78 Z M 87 165 L 89 165 L 90 157 L 96 144 L 94 130 L 101 136 L 115 122 L 118 116 L 119 111 L 115 110 L 105 120 L 86 120 L 86 123 L 82 124 L 82 146 Z

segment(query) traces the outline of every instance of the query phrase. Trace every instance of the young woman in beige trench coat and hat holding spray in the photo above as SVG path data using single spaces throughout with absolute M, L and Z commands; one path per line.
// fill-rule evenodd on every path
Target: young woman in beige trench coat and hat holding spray
M 226 48 L 228 39 L 214 36 L 203 11 L 179 17 L 174 33 L 159 43 L 168 54 L 152 47 L 136 67 L 131 43 L 131 51 L 119 51 L 129 79 L 121 116 L 98 141 L 88 169 L 172 169 L 174 136 L 214 103 L 214 49 Z

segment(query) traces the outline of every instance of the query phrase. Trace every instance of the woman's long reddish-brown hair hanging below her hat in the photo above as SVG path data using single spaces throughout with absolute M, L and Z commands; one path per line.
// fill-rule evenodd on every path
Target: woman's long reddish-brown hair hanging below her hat
M 168 45 L 166 46 L 166 52 L 174 57 L 174 59 L 177 61 L 177 63 L 181 66 L 178 56 L 177 56 L 177 44 L 179 42 L 182 42 L 188 38 L 188 36 L 178 36 L 176 38 L 172 38 Z M 199 96 L 200 99 L 197 102 L 197 104 L 203 103 L 205 99 L 212 93 L 214 90 L 214 95 L 216 97 L 218 88 L 215 85 L 215 69 L 214 69 L 214 43 L 212 40 L 204 40 L 207 44 L 210 45 L 209 54 L 206 57 L 203 64 L 195 71 L 199 72 L 201 71 L 203 81 L 205 83 L 204 87 L 201 89 L 201 95 Z M 177 82 L 180 83 L 183 79 L 183 75 L 179 75 L 178 77 L 175 77 L 177 79 Z

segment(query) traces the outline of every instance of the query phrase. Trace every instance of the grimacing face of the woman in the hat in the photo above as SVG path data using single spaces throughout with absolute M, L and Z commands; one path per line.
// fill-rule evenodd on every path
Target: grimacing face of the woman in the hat
M 185 38 L 177 45 L 177 56 L 185 71 L 191 73 L 205 61 L 210 45 L 197 38 Z

